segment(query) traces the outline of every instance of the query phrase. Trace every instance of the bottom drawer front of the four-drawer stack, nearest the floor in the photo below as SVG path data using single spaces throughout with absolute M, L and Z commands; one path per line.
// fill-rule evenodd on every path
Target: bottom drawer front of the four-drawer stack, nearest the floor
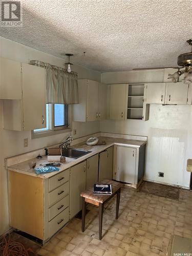
M 49 222 L 49 237 L 53 236 L 63 225 L 69 221 L 69 207 L 61 211 L 53 220 Z

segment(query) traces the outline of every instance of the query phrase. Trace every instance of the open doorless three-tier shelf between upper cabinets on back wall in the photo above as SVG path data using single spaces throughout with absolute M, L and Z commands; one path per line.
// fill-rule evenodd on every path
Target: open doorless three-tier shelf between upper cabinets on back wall
M 144 84 L 129 84 L 127 101 L 127 119 L 143 117 Z

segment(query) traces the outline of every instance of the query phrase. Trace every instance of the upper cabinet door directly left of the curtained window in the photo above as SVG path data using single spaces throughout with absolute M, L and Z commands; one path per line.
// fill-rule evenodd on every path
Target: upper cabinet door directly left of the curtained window
M 23 63 L 24 131 L 46 127 L 45 69 Z

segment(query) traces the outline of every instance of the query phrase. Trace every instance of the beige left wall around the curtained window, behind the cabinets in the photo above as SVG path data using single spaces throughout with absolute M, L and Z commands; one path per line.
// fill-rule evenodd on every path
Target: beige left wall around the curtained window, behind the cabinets
M 3 37 L 0 37 L 0 51 L 0 56 L 2 57 L 27 63 L 32 59 L 49 62 L 60 67 L 63 67 L 63 63 L 65 63 L 65 60 L 61 58 L 57 58 L 44 52 L 40 52 L 24 45 L 17 44 L 16 42 L 5 39 Z M 78 73 L 78 78 L 87 78 L 100 81 L 100 73 L 98 72 L 88 70 L 77 65 L 73 65 L 72 68 Z M 77 135 L 74 137 L 81 137 L 99 132 L 99 122 L 73 122 L 72 130 L 73 129 L 77 130 Z M 2 101 L 0 100 L 0 235 L 9 229 L 7 173 L 4 168 L 4 158 L 59 143 L 65 140 L 68 135 L 69 133 L 63 133 L 44 138 L 31 139 L 31 132 L 15 132 L 4 130 Z M 24 147 L 24 138 L 29 139 L 28 147 Z

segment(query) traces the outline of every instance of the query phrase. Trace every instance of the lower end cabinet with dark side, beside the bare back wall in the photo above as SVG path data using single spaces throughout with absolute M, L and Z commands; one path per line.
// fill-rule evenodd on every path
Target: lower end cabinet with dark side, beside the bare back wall
M 114 145 L 113 179 L 137 187 L 144 176 L 145 144 L 140 147 Z

